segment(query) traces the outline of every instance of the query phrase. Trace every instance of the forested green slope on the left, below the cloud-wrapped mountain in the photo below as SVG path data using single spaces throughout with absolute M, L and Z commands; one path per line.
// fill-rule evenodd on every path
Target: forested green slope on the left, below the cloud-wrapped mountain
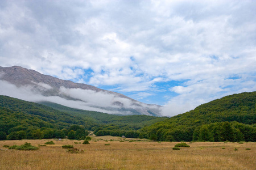
M 72 109 L 53 103 L 48 103 L 48 105 L 59 110 L 43 104 L 0 96 L 0 140 L 63 138 L 74 126 L 76 130 L 80 129 L 79 134 L 76 135 L 76 138 L 80 139 L 85 137 L 85 130 L 97 129 L 104 125 L 113 127 L 113 124 L 115 124 L 115 132 L 119 130 L 119 133 L 115 134 L 123 135 L 126 131 L 135 131 L 144 125 L 151 125 L 166 119 L 166 117 L 145 115 L 117 116 Z

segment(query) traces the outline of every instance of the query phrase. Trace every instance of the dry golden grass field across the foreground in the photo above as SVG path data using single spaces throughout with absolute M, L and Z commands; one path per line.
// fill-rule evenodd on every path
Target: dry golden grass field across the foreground
M 38 146 L 48 141 L 55 145 L 43 146 L 36 151 L 3 147 L 25 142 Z M 90 145 L 67 139 L 0 141 L 0 169 L 256 169 L 256 143 L 253 142 L 187 142 L 190 147 L 172 150 L 180 142 L 119 141 L 123 139 L 94 137 Z M 61 147 L 63 145 L 73 145 L 85 152 L 71 154 Z

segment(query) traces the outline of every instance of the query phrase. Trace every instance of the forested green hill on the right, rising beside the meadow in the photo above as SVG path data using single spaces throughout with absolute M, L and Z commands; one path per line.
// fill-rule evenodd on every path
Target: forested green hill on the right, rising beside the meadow
M 256 141 L 256 92 L 243 92 L 202 104 L 140 130 L 158 141 Z

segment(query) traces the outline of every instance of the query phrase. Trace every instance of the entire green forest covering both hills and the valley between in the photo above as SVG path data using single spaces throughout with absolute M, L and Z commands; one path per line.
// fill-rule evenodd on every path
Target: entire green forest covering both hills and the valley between
M 94 134 L 154 141 L 256 141 L 256 92 L 202 104 L 177 116 L 118 116 L 0 96 L 0 140 L 84 139 Z

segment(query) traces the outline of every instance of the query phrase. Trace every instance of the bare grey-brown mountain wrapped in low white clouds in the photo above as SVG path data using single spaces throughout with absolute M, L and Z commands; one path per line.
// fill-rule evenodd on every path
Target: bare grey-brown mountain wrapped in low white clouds
M 23 67 L 0 67 L 0 95 L 109 114 L 161 116 L 159 105 L 144 104 L 117 92 L 40 74 Z

